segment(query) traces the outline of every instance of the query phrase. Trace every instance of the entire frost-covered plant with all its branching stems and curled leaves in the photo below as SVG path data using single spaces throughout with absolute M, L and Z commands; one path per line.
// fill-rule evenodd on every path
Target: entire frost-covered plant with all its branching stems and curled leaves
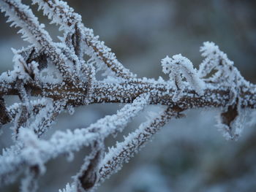
M 50 159 L 72 157 L 75 151 L 91 147 L 73 182 L 62 191 L 94 191 L 171 118 L 183 117 L 184 110 L 219 109 L 217 125 L 227 139 L 236 139 L 242 130 L 242 111 L 256 108 L 255 85 L 244 80 L 213 42 L 201 47 L 205 59 L 198 71 L 188 58 L 173 55 L 162 59 L 163 72 L 170 80 L 138 78 L 81 23 L 80 15 L 66 2 L 32 3 L 59 26 L 63 37 L 53 42 L 30 7 L 20 0 L 0 0 L 7 21 L 20 28 L 23 39 L 31 44 L 13 50 L 14 69 L 0 76 L 0 126 L 13 123 L 15 143 L 0 156 L 0 185 L 13 183 L 22 175 L 20 191 L 37 191 L 37 181 Z M 97 80 L 99 70 L 105 71 L 104 80 Z M 20 102 L 7 107 L 4 99 L 12 95 Z M 100 103 L 125 105 L 87 128 L 56 131 L 48 140 L 41 138 L 61 112 L 72 114 L 75 107 Z M 105 138 L 121 133 L 132 118 L 153 104 L 162 105 L 162 112 L 151 115 L 105 153 Z

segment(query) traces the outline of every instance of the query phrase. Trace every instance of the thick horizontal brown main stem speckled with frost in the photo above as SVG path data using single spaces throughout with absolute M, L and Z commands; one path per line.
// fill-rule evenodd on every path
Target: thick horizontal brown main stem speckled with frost
M 7 88 L 5 87 L 7 85 Z M 152 97 L 149 100 L 150 104 L 176 104 L 173 102 L 173 97 L 176 96 L 176 88 L 170 87 L 168 82 L 145 81 L 138 83 L 105 83 L 95 82 L 91 88 L 91 95 L 88 97 L 89 103 L 131 103 L 141 93 L 150 93 Z M 12 88 L 12 83 L 1 83 L 3 94 L 18 95 L 16 88 Z M 85 88 L 69 88 L 67 85 L 57 84 L 53 89 L 40 88 L 37 85 L 29 83 L 31 86 L 31 96 L 41 96 L 51 99 L 68 99 L 68 103 L 74 107 L 86 105 L 83 97 L 86 95 Z M 84 83 L 86 86 L 86 83 Z M 241 86 L 241 107 L 256 108 L 256 87 Z M 225 107 L 225 104 L 232 98 L 230 96 L 230 88 L 220 86 L 214 88 L 207 86 L 203 96 L 198 96 L 189 86 L 186 86 L 183 96 L 179 104 L 187 105 L 190 109 L 198 107 Z

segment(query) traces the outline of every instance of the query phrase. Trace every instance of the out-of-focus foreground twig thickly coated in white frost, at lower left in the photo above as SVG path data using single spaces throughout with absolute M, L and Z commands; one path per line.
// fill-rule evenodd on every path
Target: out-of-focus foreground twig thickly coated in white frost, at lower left
M 43 166 L 51 158 L 78 151 L 81 147 L 93 145 L 95 141 L 105 139 L 110 134 L 121 132 L 129 120 L 138 115 L 146 104 L 148 104 L 148 96 L 140 96 L 132 104 L 124 106 L 116 115 L 107 115 L 88 128 L 57 131 L 48 141 L 38 139 L 32 131 L 23 128 L 19 139 L 28 145 L 21 149 L 19 147 L 18 150 L 7 150 L 0 156 L 0 178 L 19 174 L 20 170 L 35 166 L 38 161 Z M 31 163 L 31 158 L 35 158 L 31 153 L 37 155 L 38 161 L 33 160 Z M 4 183 L 8 183 L 8 180 L 4 180 Z

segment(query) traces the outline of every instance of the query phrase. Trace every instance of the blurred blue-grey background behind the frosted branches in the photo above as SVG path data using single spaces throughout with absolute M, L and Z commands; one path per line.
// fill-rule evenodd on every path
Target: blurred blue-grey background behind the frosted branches
M 29 0 L 24 1 L 30 3 Z M 202 61 L 199 48 L 212 41 L 235 62 L 241 74 L 256 82 L 256 1 L 255 0 L 112 0 L 68 1 L 82 15 L 85 26 L 94 29 L 124 66 L 139 77 L 163 76 L 160 60 L 181 53 L 197 67 Z M 37 7 L 33 6 L 33 9 Z M 42 12 L 39 20 L 57 41 L 56 26 L 48 25 Z M 28 45 L 16 28 L 10 28 L 0 15 L 0 72 L 12 69 L 11 47 Z M 13 98 L 12 98 L 13 99 Z M 10 102 L 12 101 L 10 99 Z M 86 127 L 97 119 L 116 112 L 121 104 L 80 107 L 75 114 L 62 114 L 47 139 L 56 129 Z M 148 111 L 158 107 L 149 107 Z M 217 131 L 217 110 L 189 110 L 187 118 L 171 120 L 129 164 L 110 177 L 98 191 L 256 191 L 256 129 L 245 120 L 238 141 L 226 141 Z M 251 112 L 247 112 L 248 116 Z M 145 120 L 146 112 L 129 123 L 124 134 Z M 252 117 L 256 118 L 256 117 Z M 12 144 L 10 126 L 4 128 L 0 147 Z M 119 141 L 122 137 L 117 137 Z M 107 145 L 115 139 L 109 138 Z M 48 172 L 39 191 L 58 191 L 78 172 L 87 150 L 75 154 L 71 163 L 59 157 L 47 164 Z M 0 188 L 18 191 L 19 183 Z

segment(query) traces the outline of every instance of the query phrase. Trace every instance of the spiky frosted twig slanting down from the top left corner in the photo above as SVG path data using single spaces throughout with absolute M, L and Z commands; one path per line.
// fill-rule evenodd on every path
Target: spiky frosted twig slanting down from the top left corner
M 1 10 L 9 16 L 8 22 L 12 22 L 13 26 L 21 28 L 19 32 L 23 34 L 23 38 L 36 46 L 43 47 L 45 53 L 56 64 L 64 77 L 69 78 L 71 69 L 67 66 L 64 55 L 53 44 L 53 40 L 45 31 L 44 25 L 39 24 L 31 9 L 22 4 L 20 0 L 1 0 L 0 6 Z

